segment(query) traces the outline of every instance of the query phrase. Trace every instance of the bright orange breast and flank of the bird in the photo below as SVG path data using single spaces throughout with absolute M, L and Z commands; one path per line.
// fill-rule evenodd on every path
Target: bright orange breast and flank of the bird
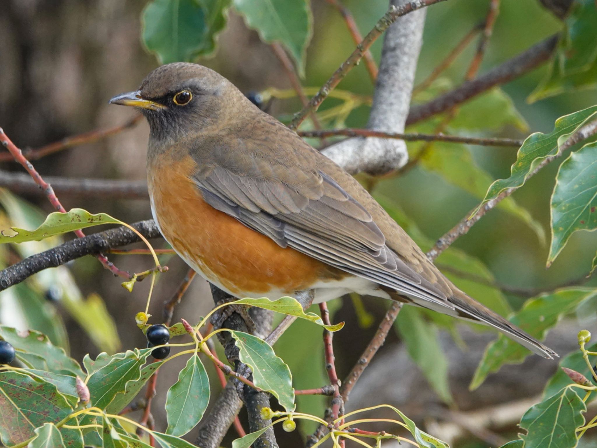
M 195 169 L 190 157 L 173 161 L 162 155 L 152 161 L 147 177 L 164 237 L 208 280 L 219 281 L 232 293 L 291 294 L 336 271 L 292 248 L 279 247 L 208 205 L 189 177 Z

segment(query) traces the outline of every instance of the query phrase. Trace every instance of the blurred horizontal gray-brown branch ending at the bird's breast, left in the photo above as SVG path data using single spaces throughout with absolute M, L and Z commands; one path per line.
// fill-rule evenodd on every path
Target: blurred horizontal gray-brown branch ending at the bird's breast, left
M 101 199 L 149 199 L 147 183 L 144 181 L 112 179 L 69 179 L 68 177 L 47 176 L 45 181 L 54 193 L 70 197 Z M 44 191 L 30 176 L 0 170 L 0 186 L 14 193 L 44 194 Z

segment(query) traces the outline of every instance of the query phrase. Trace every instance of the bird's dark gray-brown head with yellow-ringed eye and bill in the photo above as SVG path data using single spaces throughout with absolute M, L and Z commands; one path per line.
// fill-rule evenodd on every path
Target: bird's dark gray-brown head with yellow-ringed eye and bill
M 117 95 L 110 103 L 139 108 L 152 139 L 162 143 L 217 127 L 233 118 L 235 110 L 253 106 L 214 70 L 184 62 L 158 67 L 139 90 Z

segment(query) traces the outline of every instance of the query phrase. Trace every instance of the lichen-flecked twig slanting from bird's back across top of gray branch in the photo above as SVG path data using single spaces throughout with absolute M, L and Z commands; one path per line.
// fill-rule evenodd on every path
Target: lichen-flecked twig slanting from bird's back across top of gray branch
M 330 91 L 332 91 L 344 76 L 346 76 L 346 74 L 361 61 L 364 52 L 369 50 L 371 45 L 373 45 L 373 42 L 375 42 L 392 23 L 396 22 L 398 17 L 442 1 L 445 0 L 414 0 L 399 7 L 392 5 L 387 13 L 377 22 L 376 26 L 374 26 L 367 36 L 365 36 L 362 42 L 356 46 L 355 51 L 353 51 L 348 59 L 338 67 L 331 78 L 328 79 L 321 89 L 319 89 L 318 93 L 312 97 L 309 104 L 294 116 L 290 128 L 298 128 L 307 115 L 317 111 L 321 103 L 325 100 L 328 94 L 330 94 Z

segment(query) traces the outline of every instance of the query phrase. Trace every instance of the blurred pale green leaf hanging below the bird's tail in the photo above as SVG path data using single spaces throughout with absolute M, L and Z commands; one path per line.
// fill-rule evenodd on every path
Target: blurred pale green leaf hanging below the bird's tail
M 454 399 L 448 383 L 448 359 L 439 344 L 437 327 L 433 323 L 425 322 L 418 308 L 403 306 L 395 328 L 406 344 L 408 354 L 417 363 L 439 398 L 446 403 L 452 403 Z

